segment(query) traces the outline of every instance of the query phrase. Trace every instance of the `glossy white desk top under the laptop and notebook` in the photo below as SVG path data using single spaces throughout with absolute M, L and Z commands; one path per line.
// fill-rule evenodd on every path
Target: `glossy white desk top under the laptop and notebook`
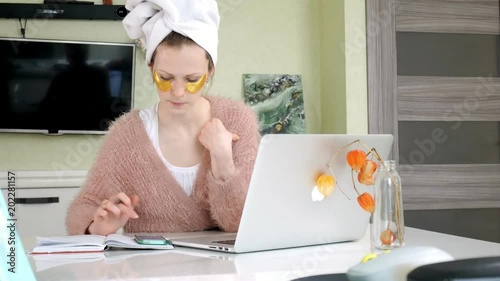
M 414 228 L 407 228 L 406 233 L 407 246 L 438 247 L 456 259 L 500 256 L 498 243 Z M 180 234 L 176 236 L 178 235 Z M 304 276 L 346 272 L 349 267 L 359 263 L 370 253 L 368 238 L 367 235 L 357 242 L 247 254 L 217 253 L 181 247 L 161 252 L 110 251 L 105 254 L 80 255 L 87 258 L 45 269 L 43 267 L 50 264 L 35 262 L 31 256 L 29 260 L 39 281 L 293 280 Z M 76 254 L 69 255 L 77 257 Z

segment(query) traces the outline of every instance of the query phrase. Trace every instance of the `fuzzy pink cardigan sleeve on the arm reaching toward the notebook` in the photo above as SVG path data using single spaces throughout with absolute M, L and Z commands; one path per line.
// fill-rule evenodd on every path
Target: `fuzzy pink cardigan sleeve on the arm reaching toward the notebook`
M 109 130 L 80 192 L 70 203 L 65 222 L 69 235 L 84 234 L 99 204 L 124 189 L 121 182 L 127 175 L 124 165 L 127 154 L 124 152 L 123 129 L 125 126 L 115 126 Z

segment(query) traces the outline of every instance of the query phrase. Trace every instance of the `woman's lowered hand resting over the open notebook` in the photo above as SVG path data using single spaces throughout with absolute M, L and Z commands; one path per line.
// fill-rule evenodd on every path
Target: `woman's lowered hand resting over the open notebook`
M 130 218 L 139 217 L 134 211 L 138 203 L 137 195 L 128 197 L 123 192 L 103 200 L 94 213 L 94 221 L 89 225 L 88 232 L 98 235 L 116 233 Z

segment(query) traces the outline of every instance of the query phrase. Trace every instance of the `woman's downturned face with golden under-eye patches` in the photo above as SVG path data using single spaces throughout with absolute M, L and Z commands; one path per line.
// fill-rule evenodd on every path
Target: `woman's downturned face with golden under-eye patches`
M 158 46 L 152 70 L 153 75 L 156 71 L 161 82 L 171 84 L 168 90 L 156 87 L 160 103 L 178 112 L 185 112 L 200 100 L 204 88 L 200 79 L 203 75 L 206 78 L 212 75 L 208 71 L 206 52 L 198 45 Z

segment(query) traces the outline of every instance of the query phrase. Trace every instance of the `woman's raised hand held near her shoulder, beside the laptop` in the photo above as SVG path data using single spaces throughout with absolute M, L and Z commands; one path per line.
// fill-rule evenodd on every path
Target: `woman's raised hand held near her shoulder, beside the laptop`
M 198 140 L 210 151 L 212 174 L 219 180 L 225 180 L 234 174 L 233 141 L 240 137 L 229 132 L 222 121 L 212 118 L 201 129 Z

